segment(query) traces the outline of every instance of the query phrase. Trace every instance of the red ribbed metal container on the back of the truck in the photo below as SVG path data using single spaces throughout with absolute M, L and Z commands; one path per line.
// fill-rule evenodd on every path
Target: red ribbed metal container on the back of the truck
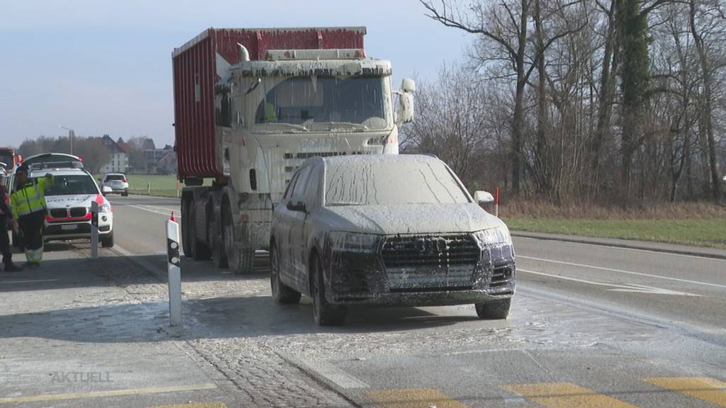
M 179 179 L 221 178 L 214 137 L 214 84 L 217 55 L 229 64 L 240 62 L 244 45 L 250 60 L 268 49 L 363 49 L 365 28 L 209 28 L 174 49 L 174 131 Z M 221 68 L 224 69 L 224 68 Z

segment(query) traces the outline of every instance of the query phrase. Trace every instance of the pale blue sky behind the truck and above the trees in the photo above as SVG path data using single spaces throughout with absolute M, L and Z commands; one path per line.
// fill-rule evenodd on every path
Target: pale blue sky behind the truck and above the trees
M 147 135 L 173 144 L 171 50 L 205 28 L 365 25 L 366 52 L 401 78 L 434 78 L 470 36 L 417 0 L 4 1 L 0 146 L 43 134 Z

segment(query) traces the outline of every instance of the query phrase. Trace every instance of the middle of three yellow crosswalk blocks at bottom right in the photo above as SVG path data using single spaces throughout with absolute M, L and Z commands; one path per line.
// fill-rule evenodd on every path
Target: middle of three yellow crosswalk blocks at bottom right
M 502 385 L 502 388 L 549 408 L 636 408 L 573 383 Z

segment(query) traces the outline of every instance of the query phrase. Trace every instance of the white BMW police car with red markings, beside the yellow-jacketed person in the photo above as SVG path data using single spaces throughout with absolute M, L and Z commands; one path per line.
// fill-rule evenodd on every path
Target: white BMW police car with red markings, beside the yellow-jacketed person
M 113 206 L 88 171 L 82 168 L 44 168 L 32 171 L 36 179 L 52 174 L 55 181 L 46 189 L 48 205 L 44 239 L 87 240 L 91 238 L 91 203 L 98 203 L 99 241 L 104 248 L 113 247 Z

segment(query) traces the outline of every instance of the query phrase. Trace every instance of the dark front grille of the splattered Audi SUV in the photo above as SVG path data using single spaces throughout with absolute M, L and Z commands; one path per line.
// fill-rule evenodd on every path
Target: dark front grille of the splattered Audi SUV
M 466 290 L 481 250 L 471 234 L 425 234 L 386 238 L 383 263 L 394 292 Z

